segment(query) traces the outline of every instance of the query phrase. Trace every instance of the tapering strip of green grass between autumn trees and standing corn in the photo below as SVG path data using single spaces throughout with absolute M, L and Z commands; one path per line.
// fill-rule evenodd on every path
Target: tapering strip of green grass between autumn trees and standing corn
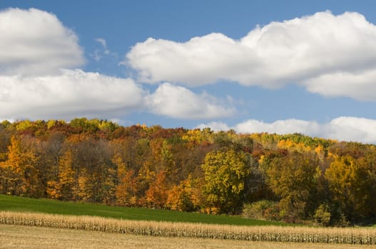
M 124 208 L 118 206 L 6 196 L 3 194 L 0 194 L 0 211 L 56 213 L 73 216 L 101 216 L 136 221 L 171 221 L 237 226 L 291 226 L 287 223 L 258 221 L 235 216 L 213 216 L 203 213 L 187 213 L 148 208 Z

